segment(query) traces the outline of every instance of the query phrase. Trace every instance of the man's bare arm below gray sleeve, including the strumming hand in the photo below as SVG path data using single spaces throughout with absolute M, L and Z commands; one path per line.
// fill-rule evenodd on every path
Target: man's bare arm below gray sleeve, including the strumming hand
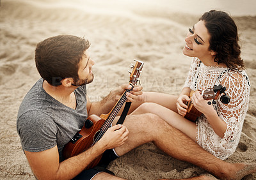
M 29 165 L 37 179 L 72 179 L 82 172 L 97 156 L 106 149 L 124 144 L 129 131 L 121 124 L 106 131 L 104 136 L 90 149 L 59 163 L 58 147 L 41 152 L 25 151 Z

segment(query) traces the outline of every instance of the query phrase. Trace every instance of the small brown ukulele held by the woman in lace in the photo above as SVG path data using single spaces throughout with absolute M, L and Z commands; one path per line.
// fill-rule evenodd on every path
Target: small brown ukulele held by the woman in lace
M 226 87 L 223 87 L 221 85 L 219 85 L 219 86 L 214 85 L 213 88 L 209 88 L 209 89 L 206 89 L 204 91 L 201 91 L 201 94 L 202 94 L 204 100 L 213 100 L 212 104 L 216 104 L 215 100 L 217 100 L 218 96 L 223 93 L 220 100 L 221 100 L 222 103 L 227 104 L 227 103 L 230 102 L 230 97 L 225 93 L 225 91 L 226 91 Z M 195 91 L 191 90 L 191 92 L 189 94 L 189 98 L 191 98 L 191 96 L 194 93 L 195 93 Z M 211 105 L 211 101 L 209 101 L 208 104 Z M 198 116 L 202 115 L 202 112 L 198 111 L 193 106 L 192 101 L 187 101 L 186 105 L 188 106 L 188 109 L 187 109 L 187 114 L 184 117 L 186 119 L 188 119 L 189 121 L 195 122 L 196 118 Z

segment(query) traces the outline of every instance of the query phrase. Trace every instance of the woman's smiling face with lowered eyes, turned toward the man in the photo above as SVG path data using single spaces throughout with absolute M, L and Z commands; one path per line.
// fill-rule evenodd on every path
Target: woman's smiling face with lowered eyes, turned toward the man
M 205 27 L 204 21 L 200 20 L 192 29 L 189 28 L 189 32 L 185 38 L 186 44 L 183 54 L 189 57 L 198 57 L 201 61 L 205 58 L 212 58 L 215 53 L 209 50 L 210 38 L 211 36 Z

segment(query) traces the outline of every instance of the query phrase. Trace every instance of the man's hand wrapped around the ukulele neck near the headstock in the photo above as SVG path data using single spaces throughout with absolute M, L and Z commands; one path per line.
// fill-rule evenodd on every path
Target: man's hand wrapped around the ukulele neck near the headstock
M 126 89 L 131 89 L 132 86 L 129 84 L 124 84 L 120 87 L 118 87 L 117 94 L 116 94 L 116 100 L 119 100 L 122 94 Z M 134 102 L 134 101 L 141 101 L 142 100 L 142 86 L 134 86 L 132 91 L 129 93 L 126 93 L 127 102 Z

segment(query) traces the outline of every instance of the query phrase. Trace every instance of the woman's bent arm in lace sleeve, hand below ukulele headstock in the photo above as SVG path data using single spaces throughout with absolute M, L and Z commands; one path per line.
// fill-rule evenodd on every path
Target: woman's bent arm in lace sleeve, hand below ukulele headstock
M 207 117 L 215 133 L 230 141 L 236 139 L 236 135 L 241 133 L 241 126 L 248 109 L 250 86 L 246 77 L 237 71 L 223 75 L 220 83 L 227 88 L 226 93 L 230 96 L 230 102 L 223 104 L 219 99 L 218 114 L 200 93 L 194 93 L 191 100 L 196 109 Z

